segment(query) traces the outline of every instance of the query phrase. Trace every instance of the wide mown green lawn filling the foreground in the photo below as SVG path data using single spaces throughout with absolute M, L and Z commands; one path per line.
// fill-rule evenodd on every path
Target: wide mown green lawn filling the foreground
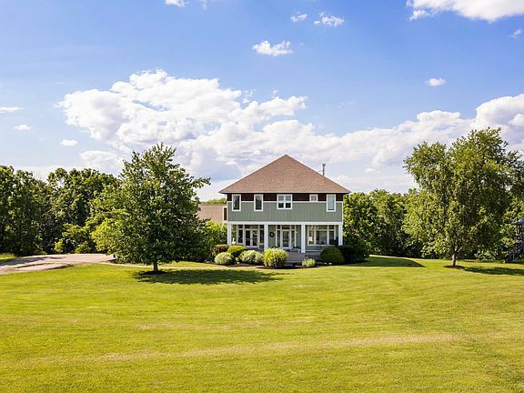
M 524 391 L 524 267 L 447 264 L 0 276 L 0 390 Z

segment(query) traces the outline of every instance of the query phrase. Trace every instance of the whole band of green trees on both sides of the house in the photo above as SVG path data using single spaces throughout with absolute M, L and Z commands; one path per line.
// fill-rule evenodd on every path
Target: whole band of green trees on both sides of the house
M 119 176 L 56 169 L 46 181 L 0 166 L 0 252 L 108 252 L 127 262 L 205 260 L 225 243 L 222 224 L 196 217 L 190 176 L 162 144 L 134 153 Z M 404 257 L 500 258 L 510 223 L 524 217 L 522 157 L 499 129 L 471 131 L 451 146 L 417 146 L 405 160 L 417 187 L 346 196 L 344 241 Z M 224 199 L 217 199 L 221 203 Z

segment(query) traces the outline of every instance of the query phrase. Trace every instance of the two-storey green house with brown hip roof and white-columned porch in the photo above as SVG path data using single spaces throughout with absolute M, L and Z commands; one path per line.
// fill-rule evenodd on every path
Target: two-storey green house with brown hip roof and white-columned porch
M 220 191 L 227 196 L 227 244 L 317 253 L 342 244 L 348 189 L 290 156 Z

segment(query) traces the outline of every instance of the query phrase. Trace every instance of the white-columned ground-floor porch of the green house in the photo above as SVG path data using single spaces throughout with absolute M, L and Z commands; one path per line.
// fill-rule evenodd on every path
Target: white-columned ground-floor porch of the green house
M 342 223 L 227 223 L 227 244 L 266 250 L 320 253 L 342 244 Z

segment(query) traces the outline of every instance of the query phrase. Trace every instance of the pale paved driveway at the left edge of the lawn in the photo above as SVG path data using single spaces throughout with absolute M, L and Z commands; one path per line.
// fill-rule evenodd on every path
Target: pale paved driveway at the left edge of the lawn
M 57 254 L 49 256 L 20 257 L 5 263 L 0 263 L 0 275 L 51 270 L 86 263 L 106 263 L 113 261 L 113 259 L 113 256 L 106 256 L 105 254 Z

